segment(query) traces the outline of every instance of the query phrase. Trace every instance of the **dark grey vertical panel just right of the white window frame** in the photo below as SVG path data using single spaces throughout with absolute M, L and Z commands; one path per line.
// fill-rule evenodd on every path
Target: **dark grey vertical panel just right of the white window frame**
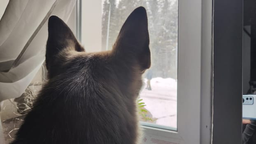
M 242 0 L 214 0 L 213 144 L 241 144 Z

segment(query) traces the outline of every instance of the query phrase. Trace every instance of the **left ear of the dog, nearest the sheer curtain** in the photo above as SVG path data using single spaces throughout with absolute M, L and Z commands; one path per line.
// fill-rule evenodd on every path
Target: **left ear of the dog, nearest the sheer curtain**
M 48 21 L 48 40 L 46 45 L 47 69 L 53 65 L 59 52 L 64 49 L 84 51 L 70 28 L 57 16 L 51 16 Z M 50 72 L 50 70 L 49 70 Z

